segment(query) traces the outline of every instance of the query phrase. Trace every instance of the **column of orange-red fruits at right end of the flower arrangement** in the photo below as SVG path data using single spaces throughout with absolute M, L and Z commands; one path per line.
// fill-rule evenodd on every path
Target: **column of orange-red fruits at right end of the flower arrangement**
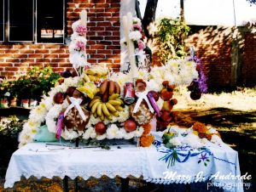
M 164 100 L 162 109 L 160 110 L 160 116 L 157 116 L 157 130 L 162 131 L 171 122 L 177 121 L 177 112 L 172 111 L 173 105 L 177 104 L 177 99 L 172 99 L 174 85 L 170 85 L 169 82 L 162 82 L 164 88 L 160 91 L 160 98 Z

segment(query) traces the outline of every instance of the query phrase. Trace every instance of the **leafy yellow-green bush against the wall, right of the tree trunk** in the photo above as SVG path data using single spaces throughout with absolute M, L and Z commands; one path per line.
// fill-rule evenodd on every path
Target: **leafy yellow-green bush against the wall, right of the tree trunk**
M 155 38 L 160 48 L 158 55 L 163 64 L 169 59 L 183 58 L 188 54 L 185 50 L 184 38 L 189 35 L 189 30 L 189 26 L 180 19 L 160 20 Z

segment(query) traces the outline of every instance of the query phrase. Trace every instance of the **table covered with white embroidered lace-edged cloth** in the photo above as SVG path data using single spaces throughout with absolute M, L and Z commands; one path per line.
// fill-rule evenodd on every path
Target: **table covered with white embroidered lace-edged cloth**
M 110 150 L 26 144 L 12 155 L 4 188 L 12 187 L 21 176 L 58 176 L 62 179 L 79 176 L 84 180 L 103 175 L 109 178 L 143 176 L 144 180 L 154 184 L 190 184 L 206 181 L 215 175 L 212 184 L 228 191 L 243 191 L 241 179 L 218 178 L 221 175 L 240 175 L 238 154 L 228 145 L 216 146 L 209 142 L 205 149 L 193 150 L 183 146 L 175 151 L 178 158 L 168 166 L 173 150 L 165 148 L 158 139 L 149 148 L 121 145 L 120 148 L 112 146 Z M 219 175 L 216 176 L 217 173 Z

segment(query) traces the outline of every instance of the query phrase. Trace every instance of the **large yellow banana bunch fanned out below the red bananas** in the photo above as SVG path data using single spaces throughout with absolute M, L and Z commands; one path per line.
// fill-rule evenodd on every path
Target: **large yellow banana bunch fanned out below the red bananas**
M 100 96 L 96 96 L 90 101 L 89 107 L 94 117 L 99 116 L 102 121 L 107 117 L 108 120 L 112 120 L 113 116 L 119 116 L 118 111 L 123 111 L 124 108 L 121 106 L 124 104 L 122 99 L 119 99 L 118 93 L 113 93 L 108 97 L 107 102 L 102 102 Z

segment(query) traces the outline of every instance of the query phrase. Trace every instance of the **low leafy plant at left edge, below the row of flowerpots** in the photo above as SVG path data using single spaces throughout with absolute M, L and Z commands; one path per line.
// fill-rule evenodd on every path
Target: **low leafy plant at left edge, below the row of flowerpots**
M 24 122 L 19 120 L 16 116 L 1 118 L 3 119 L 0 121 L 0 135 L 9 138 L 17 138 Z

